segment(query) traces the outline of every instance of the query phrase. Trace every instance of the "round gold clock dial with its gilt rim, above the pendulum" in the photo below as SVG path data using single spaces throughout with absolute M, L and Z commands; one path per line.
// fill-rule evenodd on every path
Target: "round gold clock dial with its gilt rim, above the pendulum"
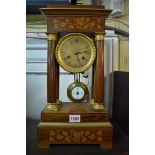
M 96 48 L 93 41 L 81 33 L 71 33 L 62 37 L 56 47 L 58 63 L 71 73 L 87 70 L 95 57 Z

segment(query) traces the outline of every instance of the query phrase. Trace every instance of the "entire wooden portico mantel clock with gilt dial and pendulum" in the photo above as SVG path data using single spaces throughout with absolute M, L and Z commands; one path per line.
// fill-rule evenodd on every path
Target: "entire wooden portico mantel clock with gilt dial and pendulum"
M 39 147 L 49 147 L 52 144 L 100 144 L 103 148 L 112 148 L 113 126 L 103 104 L 105 19 L 111 11 L 99 5 L 49 5 L 41 9 L 47 17 L 48 104 L 41 112 L 41 122 L 37 127 Z M 62 32 L 68 33 L 68 36 L 65 36 L 67 40 L 75 37 L 72 40 L 75 44 L 70 45 L 67 40 L 59 38 Z M 84 34 L 92 32 L 94 39 Z M 69 38 L 70 36 L 72 37 Z M 76 37 L 77 41 L 81 42 L 79 45 L 76 43 Z M 82 50 L 79 50 L 81 46 Z M 84 50 L 85 47 L 88 48 L 87 51 Z M 63 56 L 63 52 L 67 55 Z M 86 60 L 91 59 L 91 56 L 96 59 L 90 60 L 89 64 Z M 66 59 L 74 61 L 69 63 Z M 76 73 L 76 68 L 77 73 L 80 73 L 90 66 L 93 67 L 92 100 L 89 103 L 84 102 L 88 97 L 85 88 L 87 86 L 83 86 L 80 81 L 74 81 L 68 91 L 72 103 L 59 101 L 59 65 L 66 70 L 69 68 L 68 71 L 71 73 Z M 75 87 L 83 91 L 80 99 L 73 97 L 72 91 L 74 92 Z M 70 115 L 80 116 L 80 121 L 71 123 Z

